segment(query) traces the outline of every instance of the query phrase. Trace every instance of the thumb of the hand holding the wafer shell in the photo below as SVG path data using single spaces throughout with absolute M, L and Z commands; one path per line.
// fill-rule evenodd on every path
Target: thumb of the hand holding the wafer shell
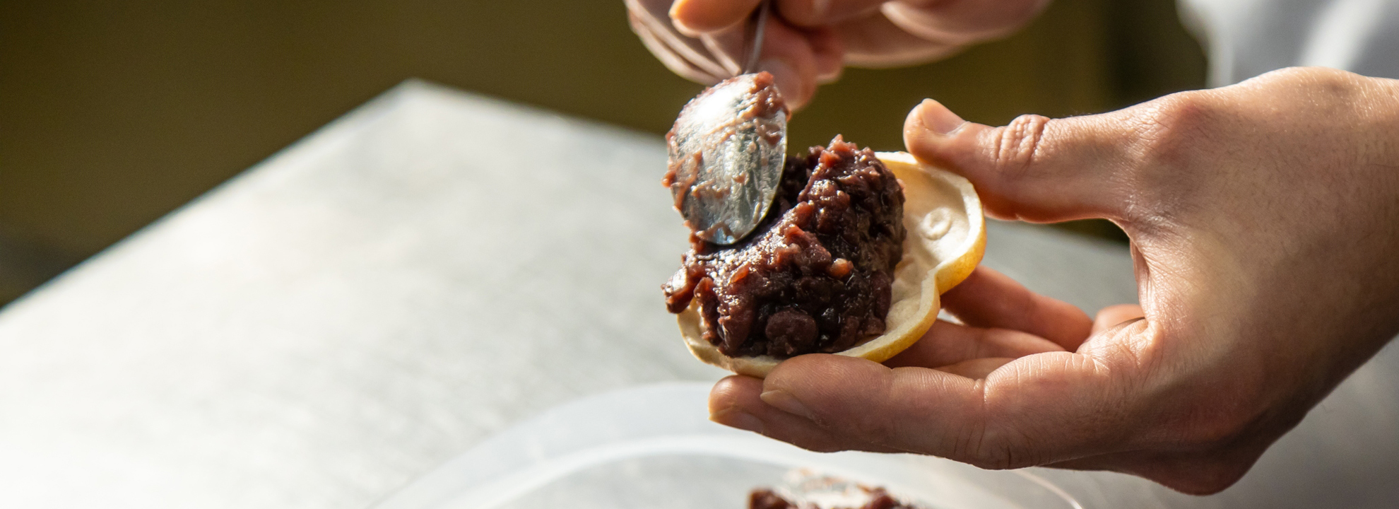
M 923 99 L 904 122 L 904 144 L 919 161 L 965 176 L 986 211 L 1037 222 L 1121 220 L 1128 169 L 1140 138 L 1123 112 L 1046 119 L 1021 115 L 1004 127 L 965 122 Z

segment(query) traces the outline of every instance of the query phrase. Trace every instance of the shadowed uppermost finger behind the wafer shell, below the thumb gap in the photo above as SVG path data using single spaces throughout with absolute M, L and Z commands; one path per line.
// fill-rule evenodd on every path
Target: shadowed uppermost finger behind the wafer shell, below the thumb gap
M 943 294 L 942 303 L 968 326 L 1028 333 L 1067 351 L 1077 350 L 1093 331 L 1093 320 L 1077 306 L 1031 292 L 986 267 L 977 267 L 965 281 Z

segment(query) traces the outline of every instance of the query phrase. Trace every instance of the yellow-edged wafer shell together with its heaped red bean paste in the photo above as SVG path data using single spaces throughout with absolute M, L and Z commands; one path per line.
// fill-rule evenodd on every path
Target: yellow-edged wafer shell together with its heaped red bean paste
M 883 362 L 937 317 L 937 295 L 985 249 L 971 183 L 839 137 L 789 157 L 760 225 L 722 246 L 691 236 L 662 288 L 701 361 L 767 376 L 811 352 Z

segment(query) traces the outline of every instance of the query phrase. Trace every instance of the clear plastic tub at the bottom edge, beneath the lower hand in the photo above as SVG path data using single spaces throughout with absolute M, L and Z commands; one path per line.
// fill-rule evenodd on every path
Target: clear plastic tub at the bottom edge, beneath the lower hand
M 914 454 L 814 453 L 709 422 L 708 383 L 582 399 L 508 429 L 376 509 L 744 509 L 748 491 L 809 468 L 929 509 L 1081 509 L 1027 471 Z

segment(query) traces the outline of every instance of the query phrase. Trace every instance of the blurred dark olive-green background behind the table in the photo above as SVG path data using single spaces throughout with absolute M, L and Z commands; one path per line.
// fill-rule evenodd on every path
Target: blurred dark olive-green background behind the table
M 409 77 L 656 134 L 701 88 L 646 53 L 621 0 L 4 1 L 0 303 Z M 895 150 L 928 96 L 1000 124 L 1203 84 L 1171 0 L 1059 0 L 947 60 L 849 70 L 790 141 Z

